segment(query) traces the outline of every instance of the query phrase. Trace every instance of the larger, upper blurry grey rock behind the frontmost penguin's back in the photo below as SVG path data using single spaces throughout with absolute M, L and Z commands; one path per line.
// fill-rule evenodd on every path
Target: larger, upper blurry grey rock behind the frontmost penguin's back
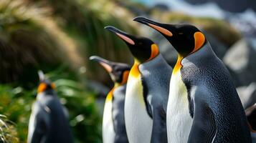
M 237 41 L 224 55 L 224 64 L 237 74 L 241 85 L 256 82 L 255 55 L 255 49 L 245 39 Z

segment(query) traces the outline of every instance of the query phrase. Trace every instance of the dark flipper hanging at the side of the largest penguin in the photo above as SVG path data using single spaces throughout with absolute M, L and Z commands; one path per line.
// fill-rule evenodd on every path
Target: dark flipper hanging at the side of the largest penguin
M 200 97 L 194 99 L 194 117 L 188 143 L 212 143 L 217 134 L 214 112 Z

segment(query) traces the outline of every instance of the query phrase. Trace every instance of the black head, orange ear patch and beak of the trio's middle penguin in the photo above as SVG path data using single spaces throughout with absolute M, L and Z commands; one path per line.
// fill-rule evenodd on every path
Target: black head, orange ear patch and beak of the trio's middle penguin
M 159 54 L 158 47 L 153 41 L 151 41 L 151 39 L 127 34 L 113 26 L 106 26 L 105 29 L 112 31 L 114 34 L 119 36 L 120 39 L 123 39 L 135 57 L 136 61 L 139 63 L 150 61 Z

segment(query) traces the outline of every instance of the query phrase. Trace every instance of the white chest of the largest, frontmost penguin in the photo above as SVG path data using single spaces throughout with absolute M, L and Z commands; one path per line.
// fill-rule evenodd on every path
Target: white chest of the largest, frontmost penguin
M 186 86 L 182 82 L 180 71 L 172 74 L 169 91 L 166 117 L 168 142 L 185 143 L 193 120 L 189 114 Z

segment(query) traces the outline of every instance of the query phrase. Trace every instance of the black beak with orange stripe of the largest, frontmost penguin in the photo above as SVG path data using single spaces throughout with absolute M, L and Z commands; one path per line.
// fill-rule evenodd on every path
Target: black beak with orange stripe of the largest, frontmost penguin
M 150 19 L 147 19 L 145 17 L 136 17 L 135 19 L 133 19 L 133 21 L 137 21 L 141 24 L 145 24 L 147 26 L 150 26 L 152 27 L 153 29 L 156 29 L 157 31 L 159 31 L 161 34 L 165 35 L 165 36 L 173 36 L 172 32 L 169 31 L 168 29 L 164 28 L 164 26 L 166 24 L 161 24 L 161 23 L 158 23 L 156 21 L 152 21 Z

